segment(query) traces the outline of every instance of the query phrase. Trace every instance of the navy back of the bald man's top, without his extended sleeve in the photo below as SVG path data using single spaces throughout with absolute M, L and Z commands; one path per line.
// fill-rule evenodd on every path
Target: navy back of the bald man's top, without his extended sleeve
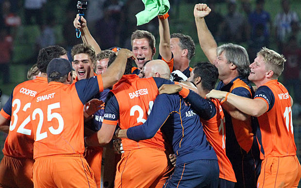
M 156 104 L 158 103 L 164 103 L 162 108 L 166 110 L 162 111 L 169 113 L 168 125 L 165 124 L 162 130 L 173 129 L 172 147 L 177 155 L 177 164 L 199 159 L 217 159 L 214 149 L 206 140 L 199 115 L 194 113 L 179 94 L 160 94 L 156 99 Z M 155 113 L 159 114 L 158 111 Z

